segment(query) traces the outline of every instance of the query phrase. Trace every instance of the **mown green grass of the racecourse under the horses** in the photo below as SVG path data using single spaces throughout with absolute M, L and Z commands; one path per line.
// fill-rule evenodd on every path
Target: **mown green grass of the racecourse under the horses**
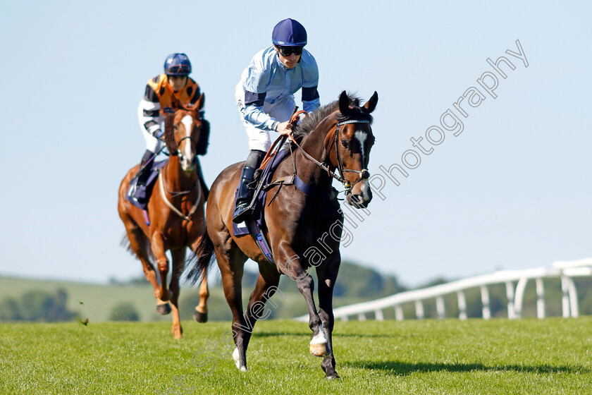
M 194 394 L 592 393 L 591 317 L 337 322 L 333 381 L 309 355 L 307 324 L 257 323 L 249 372 L 216 358 L 208 376 L 192 355 L 230 323 L 183 326 L 175 341 L 168 322 L 1 324 L 0 394 L 187 393 L 180 375 Z

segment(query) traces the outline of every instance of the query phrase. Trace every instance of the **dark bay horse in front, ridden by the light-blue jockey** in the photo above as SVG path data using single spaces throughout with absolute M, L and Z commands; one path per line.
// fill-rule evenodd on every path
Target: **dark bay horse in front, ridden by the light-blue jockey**
M 193 266 L 188 276 L 197 281 L 215 253 L 226 301 L 233 313 L 233 359 L 239 370 L 247 371 L 247 346 L 253 326 L 264 311 L 264 303 L 275 293 L 280 275 L 285 274 L 296 281 L 307 303 L 313 333 L 310 353 L 323 356 L 321 367 L 326 378 L 339 377 L 332 352 L 333 287 L 341 260 L 343 213 L 335 195 L 329 196 L 331 182 L 336 178 L 345 186 L 350 205 L 365 208 L 371 201 L 367 167 L 374 145 L 370 114 L 376 102 L 378 94 L 374 92 L 360 107 L 359 99 L 344 91 L 338 101 L 314 111 L 295 127 L 292 160 L 281 162 L 274 178 L 288 178 L 297 172 L 308 188 L 304 193 L 294 184 L 284 185 L 266 197 L 266 229 L 262 231 L 276 265 L 266 260 L 252 237 L 233 234 L 235 190 L 244 162 L 228 166 L 212 184 L 206 210 L 207 233 L 190 258 Z M 259 277 L 243 315 L 241 279 L 247 258 L 258 263 Z M 319 310 L 314 303 L 314 281 L 306 272 L 312 266 L 319 279 Z

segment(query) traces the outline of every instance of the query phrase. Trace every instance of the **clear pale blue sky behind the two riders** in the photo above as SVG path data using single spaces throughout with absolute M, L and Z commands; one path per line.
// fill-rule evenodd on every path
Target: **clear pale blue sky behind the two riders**
M 445 133 L 375 196 L 344 259 L 413 285 L 591 256 L 590 15 L 589 4 L 549 1 L 5 1 L 0 274 L 140 274 L 119 246 L 117 190 L 144 151 L 136 109 L 147 80 L 167 54 L 190 57 L 211 121 L 211 183 L 247 157 L 234 87 L 288 17 L 307 28 L 322 104 L 378 91 L 371 174 L 401 164 L 410 138 L 479 87 L 486 59 L 516 66 L 496 99 L 467 110 L 460 135 Z M 517 39 L 528 67 L 505 53 Z

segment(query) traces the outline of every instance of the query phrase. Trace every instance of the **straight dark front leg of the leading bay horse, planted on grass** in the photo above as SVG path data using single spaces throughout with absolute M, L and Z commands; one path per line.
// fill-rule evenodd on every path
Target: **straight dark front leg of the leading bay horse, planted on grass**
M 323 332 L 327 337 L 331 354 L 323 358 L 321 367 L 326 373 L 328 379 L 338 379 L 339 375 L 335 371 L 335 358 L 333 348 L 333 288 L 339 272 L 340 257 L 327 260 L 323 265 L 316 267 L 316 278 L 319 279 L 319 317 L 323 323 Z

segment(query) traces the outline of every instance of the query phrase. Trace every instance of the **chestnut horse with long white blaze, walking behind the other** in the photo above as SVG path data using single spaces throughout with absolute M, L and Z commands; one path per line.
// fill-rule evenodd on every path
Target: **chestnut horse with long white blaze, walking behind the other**
M 189 247 L 195 250 L 206 233 L 204 195 L 207 189 L 202 185 L 197 169 L 197 154 L 205 154 L 209 135 L 209 123 L 202 118 L 202 112 L 199 111 L 203 106 L 204 95 L 190 107 L 183 107 L 173 100 L 175 113 L 166 115 L 164 140 L 169 159 L 156 180 L 148 202 L 149 225 L 142 210 L 125 198 L 130 188 L 130 180 L 137 174 L 139 165 L 128 171 L 119 188 L 119 217 L 125 225 L 129 248 L 142 262 L 144 276 L 154 286 L 156 310 L 164 315 L 172 309 L 171 332 L 175 339 L 180 339 L 183 333 L 178 300 L 179 279 L 185 269 L 185 249 Z M 171 251 L 173 260 L 171 284 L 168 289 L 166 250 Z M 156 279 L 150 257 L 156 260 L 160 281 Z M 201 276 L 199 305 L 195 308 L 194 317 L 198 322 L 206 322 L 206 301 L 209 296 L 206 269 L 202 271 Z

